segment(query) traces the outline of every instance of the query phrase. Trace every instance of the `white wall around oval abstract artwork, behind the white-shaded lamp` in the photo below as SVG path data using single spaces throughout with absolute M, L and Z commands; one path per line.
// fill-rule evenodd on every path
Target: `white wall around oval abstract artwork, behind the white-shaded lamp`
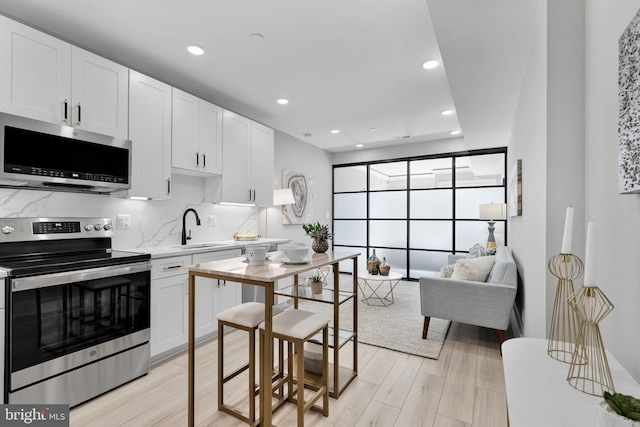
M 283 170 L 304 173 L 311 181 L 313 196 L 310 222 L 319 221 L 322 224 L 331 225 L 333 198 L 331 154 L 276 130 L 274 158 L 273 188 L 282 188 Z M 262 235 L 265 234 L 265 212 L 267 211 L 268 237 L 282 237 L 311 244 L 310 238 L 304 234 L 302 225 L 282 224 L 282 207 L 280 206 L 260 208 L 258 227 Z

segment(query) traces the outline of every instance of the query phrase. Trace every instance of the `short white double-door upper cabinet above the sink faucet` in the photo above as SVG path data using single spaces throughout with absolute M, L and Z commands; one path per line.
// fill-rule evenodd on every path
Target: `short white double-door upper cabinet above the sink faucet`
M 222 108 L 173 88 L 171 164 L 187 175 L 222 173 Z

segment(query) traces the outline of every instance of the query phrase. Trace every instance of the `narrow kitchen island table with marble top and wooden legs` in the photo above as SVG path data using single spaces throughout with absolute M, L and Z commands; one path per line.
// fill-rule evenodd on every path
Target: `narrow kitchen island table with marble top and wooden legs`
M 249 265 L 243 257 L 220 261 L 211 261 L 186 267 L 189 270 L 189 344 L 188 344 L 188 422 L 195 425 L 195 306 L 196 306 L 196 277 L 262 286 L 265 288 L 265 345 L 260 349 L 260 425 L 271 426 L 271 370 L 273 367 L 273 330 L 271 318 L 273 316 L 273 302 L 275 283 L 280 279 L 294 277 L 316 268 L 332 266 L 334 286 L 340 283 L 338 264 L 341 261 L 352 260 L 354 289 L 357 288 L 358 252 L 327 252 L 315 253 L 304 264 L 288 264 L 280 257 L 272 256 L 264 265 Z M 354 353 L 357 355 L 357 321 L 353 331 Z M 357 357 L 355 358 L 357 360 Z M 357 374 L 357 366 L 353 367 L 353 376 Z M 266 403 L 265 403 L 266 402 Z

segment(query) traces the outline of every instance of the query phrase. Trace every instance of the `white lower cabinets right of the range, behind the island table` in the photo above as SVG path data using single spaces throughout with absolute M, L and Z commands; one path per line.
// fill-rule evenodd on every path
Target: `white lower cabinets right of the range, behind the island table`
M 151 261 L 151 357 L 184 348 L 189 334 L 189 275 L 185 266 L 234 258 L 240 249 Z M 210 281 L 211 283 L 206 283 Z M 196 279 L 196 339 L 216 332 L 216 315 L 242 302 L 242 286 Z M 156 359 L 162 358 L 156 357 Z

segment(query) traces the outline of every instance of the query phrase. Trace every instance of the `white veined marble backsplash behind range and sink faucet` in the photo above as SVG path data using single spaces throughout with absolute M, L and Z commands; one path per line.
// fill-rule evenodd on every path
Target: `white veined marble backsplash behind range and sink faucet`
M 0 188 L 0 217 L 109 217 L 114 225 L 116 215 L 131 215 L 131 228 L 114 230 L 112 245 L 116 249 L 180 244 L 182 215 L 187 208 L 198 212 L 187 215 L 191 243 L 227 240 L 238 233 L 257 233 L 258 208 L 227 206 L 204 201 L 202 178 L 173 175 L 169 200 L 129 200 L 105 195 L 76 194 L 38 190 Z M 217 225 L 210 226 L 215 215 Z M 115 227 L 114 227 L 115 228 Z

